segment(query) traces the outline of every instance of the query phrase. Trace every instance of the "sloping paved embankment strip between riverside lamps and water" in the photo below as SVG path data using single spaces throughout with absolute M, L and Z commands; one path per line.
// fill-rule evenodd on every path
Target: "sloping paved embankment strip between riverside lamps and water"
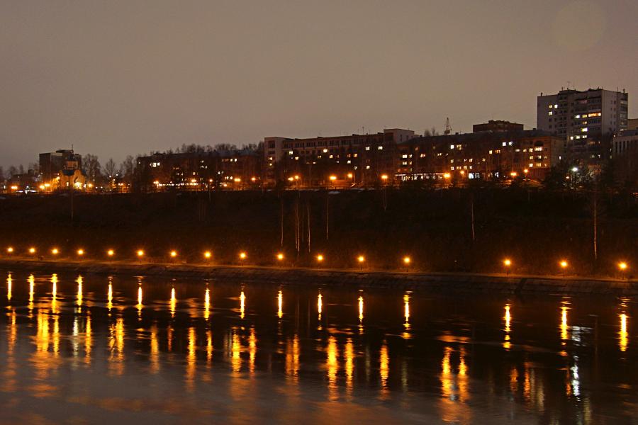
M 223 280 L 236 283 L 396 288 L 425 293 L 511 295 L 638 295 L 635 280 L 480 273 L 408 273 L 263 266 L 204 266 L 174 263 L 0 260 L 9 271 L 56 271 Z

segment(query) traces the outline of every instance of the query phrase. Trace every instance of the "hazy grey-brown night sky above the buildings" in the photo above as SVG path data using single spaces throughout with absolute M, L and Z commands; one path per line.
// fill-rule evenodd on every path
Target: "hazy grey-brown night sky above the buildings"
M 121 162 L 182 143 L 442 132 L 447 117 L 453 132 L 535 128 L 541 92 L 638 86 L 629 1 L 262 7 L 4 4 L 0 166 L 71 145 Z

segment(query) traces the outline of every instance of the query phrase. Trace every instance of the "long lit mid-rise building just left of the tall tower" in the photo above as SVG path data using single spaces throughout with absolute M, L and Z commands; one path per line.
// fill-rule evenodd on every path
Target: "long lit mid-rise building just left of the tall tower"
M 401 181 L 542 180 L 565 159 L 566 142 L 540 130 L 424 136 L 399 145 Z

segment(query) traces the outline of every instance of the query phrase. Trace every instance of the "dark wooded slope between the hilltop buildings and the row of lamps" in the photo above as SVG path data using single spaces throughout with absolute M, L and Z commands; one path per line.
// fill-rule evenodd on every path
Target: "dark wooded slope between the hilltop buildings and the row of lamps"
M 632 278 L 638 198 L 601 197 L 596 251 L 591 197 L 521 188 L 192 192 L 0 200 L 0 256 L 392 271 Z M 71 215 L 72 212 L 72 215 Z M 33 248 L 35 255 L 28 254 Z M 172 258 L 169 253 L 176 252 Z M 594 255 L 594 252 L 596 255 Z M 279 261 L 277 254 L 285 260 Z M 27 257 L 28 258 L 28 257 Z M 620 276 L 617 264 L 625 261 Z

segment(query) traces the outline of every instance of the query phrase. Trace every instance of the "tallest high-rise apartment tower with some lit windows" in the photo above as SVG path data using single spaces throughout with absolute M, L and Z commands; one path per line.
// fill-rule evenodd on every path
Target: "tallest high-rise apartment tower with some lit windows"
M 569 141 L 572 159 L 595 166 L 608 159 L 614 135 L 627 129 L 625 91 L 561 90 L 538 96 L 537 128 Z

